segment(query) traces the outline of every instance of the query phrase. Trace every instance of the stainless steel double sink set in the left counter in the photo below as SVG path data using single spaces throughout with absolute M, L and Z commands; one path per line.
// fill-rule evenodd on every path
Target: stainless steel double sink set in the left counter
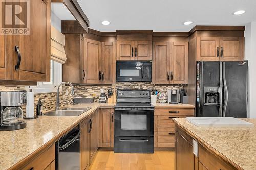
M 46 116 L 79 116 L 82 113 L 90 110 L 91 107 L 86 108 L 62 108 L 61 110 L 54 110 L 44 113 Z

